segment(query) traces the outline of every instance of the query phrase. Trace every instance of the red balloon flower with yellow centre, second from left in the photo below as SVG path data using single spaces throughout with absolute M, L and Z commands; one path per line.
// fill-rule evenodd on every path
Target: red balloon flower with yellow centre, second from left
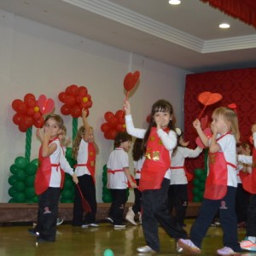
M 92 102 L 86 87 L 69 85 L 65 91 L 59 93 L 59 100 L 64 103 L 61 107 L 61 113 L 64 115 L 70 114 L 73 118 L 79 118 L 83 108 L 87 109 L 87 115 L 89 115 L 88 108 L 91 108 Z

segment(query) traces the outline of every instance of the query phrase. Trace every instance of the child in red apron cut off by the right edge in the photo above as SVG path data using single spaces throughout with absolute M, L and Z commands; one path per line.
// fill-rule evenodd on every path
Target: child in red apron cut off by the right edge
M 247 209 L 247 225 L 246 225 L 246 238 L 241 241 L 240 246 L 242 249 L 256 252 L 256 124 L 252 126 L 253 133 L 253 156 L 247 155 L 238 155 L 238 161 L 241 161 L 244 164 L 253 164 L 252 172 L 248 173 L 245 179 L 242 179 L 241 182 L 243 187 L 251 193 L 250 201 Z

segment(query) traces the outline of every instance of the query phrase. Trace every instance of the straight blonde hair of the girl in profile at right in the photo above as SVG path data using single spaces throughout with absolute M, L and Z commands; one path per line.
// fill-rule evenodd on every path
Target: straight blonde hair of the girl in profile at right
M 212 115 L 221 116 L 224 119 L 226 125 L 230 126 L 230 131 L 236 137 L 236 143 L 238 143 L 240 139 L 240 131 L 236 112 L 231 108 L 221 107 L 216 108 Z

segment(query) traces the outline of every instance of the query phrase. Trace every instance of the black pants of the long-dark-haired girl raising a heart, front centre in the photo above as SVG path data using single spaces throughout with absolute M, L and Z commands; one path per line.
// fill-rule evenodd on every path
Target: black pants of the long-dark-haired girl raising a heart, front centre
M 143 233 L 147 245 L 154 251 L 160 251 L 158 236 L 158 222 L 166 230 L 166 233 L 174 239 L 186 238 L 187 233 L 176 218 L 170 214 L 167 204 L 167 194 L 170 180 L 164 178 L 160 189 L 149 189 L 143 191 Z

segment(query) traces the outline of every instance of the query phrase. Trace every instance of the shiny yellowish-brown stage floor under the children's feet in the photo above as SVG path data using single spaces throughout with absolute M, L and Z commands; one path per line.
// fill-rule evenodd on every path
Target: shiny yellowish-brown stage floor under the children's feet
M 186 230 L 189 231 L 194 219 L 186 219 Z M 137 253 L 137 247 L 145 245 L 141 225 L 127 224 L 126 229 L 114 230 L 113 226 L 99 223 L 98 228 L 73 227 L 65 222 L 57 227 L 55 242 L 37 243 L 36 238 L 29 235 L 27 230 L 32 228 L 24 224 L 5 224 L 0 226 L 0 255 L 1 256 L 103 256 L 108 248 L 114 256 L 151 255 Z M 245 236 L 245 229 L 238 229 L 239 239 Z M 222 245 L 222 230 L 220 227 L 210 227 L 202 245 L 201 255 L 216 255 L 216 250 Z M 177 253 L 175 241 L 159 228 L 160 253 L 156 255 L 189 255 Z M 236 255 L 253 256 L 255 253 L 244 252 Z M 106 256 L 106 255 L 105 255 Z M 110 256 L 108 254 L 108 256 Z

